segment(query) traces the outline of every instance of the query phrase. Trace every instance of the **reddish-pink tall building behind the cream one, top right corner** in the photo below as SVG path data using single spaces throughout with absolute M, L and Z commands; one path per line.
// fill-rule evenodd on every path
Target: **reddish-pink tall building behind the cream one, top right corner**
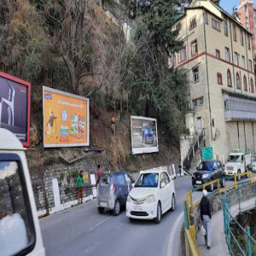
M 253 50 L 256 50 L 256 5 L 252 0 L 239 0 L 238 14 L 242 25 L 253 34 Z

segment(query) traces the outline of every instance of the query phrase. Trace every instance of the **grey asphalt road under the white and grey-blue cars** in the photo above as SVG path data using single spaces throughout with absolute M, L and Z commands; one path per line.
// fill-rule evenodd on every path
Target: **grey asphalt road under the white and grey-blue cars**
M 141 220 L 130 223 L 125 211 L 118 217 L 112 212 L 100 215 L 96 201 L 41 219 L 46 255 L 166 256 L 172 227 L 183 212 L 184 195 L 191 189 L 191 177 L 176 180 L 175 188 L 176 210 L 166 212 L 160 224 Z M 174 244 L 177 242 L 178 233 Z

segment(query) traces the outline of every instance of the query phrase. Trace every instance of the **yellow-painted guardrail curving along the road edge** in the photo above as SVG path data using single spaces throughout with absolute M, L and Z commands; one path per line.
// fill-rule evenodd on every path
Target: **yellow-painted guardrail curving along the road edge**
M 229 190 L 234 191 L 234 189 L 237 189 L 237 187 L 238 187 L 237 177 L 241 177 L 241 176 L 249 176 L 250 177 L 250 181 L 247 182 L 247 183 L 250 183 L 250 184 L 254 183 L 254 186 L 255 186 L 254 191 L 256 193 L 256 179 L 253 179 L 253 173 L 252 172 L 239 173 L 239 174 L 235 174 L 235 176 L 231 176 L 231 177 L 218 178 L 218 179 L 213 180 L 211 182 L 204 183 L 202 186 L 198 187 L 197 189 L 193 189 L 193 191 L 196 191 L 196 190 L 199 190 L 199 189 L 206 189 L 211 184 L 215 184 L 215 183 L 217 183 L 218 189 L 217 189 L 217 191 L 214 191 L 214 192 L 210 193 L 209 196 L 216 195 L 216 194 L 221 194 L 221 193 L 229 191 Z M 234 184 L 232 184 L 228 187 L 225 187 L 225 188 L 220 188 L 220 181 L 223 180 L 223 179 L 225 179 L 225 180 L 234 179 Z M 244 185 L 244 183 L 242 183 L 242 185 Z M 199 251 L 198 245 L 196 243 L 196 238 L 195 238 L 195 225 L 191 224 L 191 221 L 190 221 L 190 213 L 194 212 L 195 207 L 200 204 L 200 201 L 195 201 L 195 202 L 193 201 L 193 194 L 192 194 L 193 191 L 189 190 L 186 193 L 186 195 L 184 197 L 184 200 L 183 200 L 183 215 L 184 215 L 186 255 L 187 256 L 200 256 L 200 251 Z M 229 191 L 229 193 L 230 193 L 230 191 Z M 256 207 L 256 195 L 255 195 L 255 207 Z M 227 221 L 227 219 L 228 218 L 225 218 L 225 221 Z M 226 228 L 226 230 L 230 230 L 230 229 Z M 247 236 L 248 236 L 248 233 L 247 233 Z M 250 243 L 252 243 L 252 241 L 253 241 L 252 237 L 250 237 L 249 240 L 250 241 L 248 242 L 248 245 Z M 235 255 L 235 254 L 232 254 L 232 255 Z M 252 254 L 243 254 L 243 255 L 251 256 Z

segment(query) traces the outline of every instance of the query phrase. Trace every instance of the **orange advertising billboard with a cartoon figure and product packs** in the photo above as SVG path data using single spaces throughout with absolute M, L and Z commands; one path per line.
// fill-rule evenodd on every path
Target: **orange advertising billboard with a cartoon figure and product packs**
M 43 87 L 44 148 L 89 146 L 89 99 Z

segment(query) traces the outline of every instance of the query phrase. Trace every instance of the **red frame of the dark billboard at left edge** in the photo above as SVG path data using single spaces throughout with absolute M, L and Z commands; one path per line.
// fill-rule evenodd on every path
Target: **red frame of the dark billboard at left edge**
M 31 107 L 31 83 L 25 80 L 16 78 L 15 76 L 10 75 L 9 73 L 3 73 L 0 71 L 0 77 L 3 79 L 8 79 L 17 84 L 25 85 L 27 87 L 27 113 L 26 113 L 26 142 L 20 142 L 23 147 L 29 148 L 30 146 L 30 107 Z

